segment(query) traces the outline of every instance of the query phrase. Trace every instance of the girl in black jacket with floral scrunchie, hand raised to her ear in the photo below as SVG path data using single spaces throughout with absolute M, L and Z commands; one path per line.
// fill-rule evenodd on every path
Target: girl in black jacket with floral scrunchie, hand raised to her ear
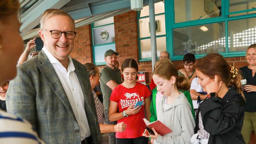
M 208 54 L 198 60 L 196 74 L 208 98 L 200 104 L 199 129 L 191 143 L 245 144 L 241 135 L 245 100 L 237 69 L 220 54 Z

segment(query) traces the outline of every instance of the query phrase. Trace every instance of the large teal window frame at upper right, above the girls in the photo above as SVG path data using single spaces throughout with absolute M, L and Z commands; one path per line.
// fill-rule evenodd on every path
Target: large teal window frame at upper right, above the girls
M 229 52 L 228 51 L 228 22 L 232 21 L 232 20 L 254 18 L 254 17 L 256 17 L 256 13 L 232 16 L 232 17 L 229 17 L 229 15 L 245 13 L 245 12 L 250 12 L 250 11 L 256 11 L 256 9 L 247 9 L 247 10 L 242 10 L 242 11 L 234 11 L 234 12 L 230 13 L 229 6 L 230 6 L 229 0 L 221 0 L 221 16 L 220 17 L 175 23 L 175 21 L 174 21 L 174 18 L 175 18 L 174 17 L 174 1 L 166 0 L 165 1 L 166 50 L 170 54 L 171 61 L 177 61 L 177 60 L 183 59 L 183 55 L 176 55 L 176 56 L 174 55 L 174 52 L 173 52 L 173 29 L 183 28 L 183 27 L 188 27 L 188 26 L 203 25 L 203 24 L 212 24 L 212 23 L 217 23 L 217 22 L 225 23 L 225 37 L 226 37 L 226 51 L 219 53 L 219 54 L 223 55 L 223 57 L 245 56 L 245 51 L 239 51 L 239 52 Z M 198 59 L 198 58 L 204 57 L 205 55 L 206 54 L 197 54 L 195 56 L 196 56 L 196 59 Z

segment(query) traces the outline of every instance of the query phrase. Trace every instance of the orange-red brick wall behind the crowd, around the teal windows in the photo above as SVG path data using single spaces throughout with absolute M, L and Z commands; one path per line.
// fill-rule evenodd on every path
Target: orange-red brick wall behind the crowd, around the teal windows
M 139 60 L 138 30 L 137 30 L 137 13 L 128 11 L 114 17 L 115 26 L 115 44 L 118 56 L 119 68 L 121 69 L 124 59 L 133 58 Z M 90 25 L 76 29 L 78 32 L 75 39 L 75 46 L 72 50 L 71 57 L 81 63 L 93 62 L 92 36 Z M 237 68 L 247 65 L 245 57 L 227 57 L 228 63 Z M 183 61 L 173 61 L 177 69 L 184 68 Z M 145 71 L 146 83 L 150 83 L 152 75 L 151 61 L 138 62 L 139 71 Z M 99 69 L 104 65 L 98 66 Z

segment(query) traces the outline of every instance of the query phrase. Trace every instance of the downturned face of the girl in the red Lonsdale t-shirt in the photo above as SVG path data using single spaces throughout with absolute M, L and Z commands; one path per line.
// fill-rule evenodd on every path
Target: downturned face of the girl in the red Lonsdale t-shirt
M 126 83 L 134 83 L 136 81 L 137 70 L 135 68 L 124 68 L 122 74 Z

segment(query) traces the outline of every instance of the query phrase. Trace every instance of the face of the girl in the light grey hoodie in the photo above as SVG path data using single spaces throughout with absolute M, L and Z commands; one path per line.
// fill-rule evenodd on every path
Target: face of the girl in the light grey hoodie
M 175 77 L 172 76 L 171 79 L 164 79 L 157 74 L 152 76 L 154 83 L 156 84 L 156 90 L 161 92 L 163 96 L 169 96 L 174 89 Z

